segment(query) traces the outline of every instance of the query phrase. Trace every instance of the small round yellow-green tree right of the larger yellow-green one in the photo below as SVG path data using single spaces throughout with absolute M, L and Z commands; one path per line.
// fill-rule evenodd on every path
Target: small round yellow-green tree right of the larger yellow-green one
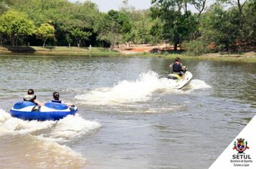
M 54 37 L 54 32 L 55 29 L 52 25 L 50 24 L 41 24 L 36 32 L 35 35 L 37 36 L 38 39 L 42 39 L 42 41 L 44 42 L 42 44 L 42 47 L 45 47 L 45 42 L 47 39 L 53 38 Z

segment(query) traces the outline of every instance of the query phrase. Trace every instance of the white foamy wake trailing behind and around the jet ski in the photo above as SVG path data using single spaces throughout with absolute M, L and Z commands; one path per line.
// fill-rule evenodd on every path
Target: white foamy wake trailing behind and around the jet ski
M 173 84 L 167 78 L 159 78 L 156 72 L 142 73 L 135 81 L 123 80 L 114 87 L 104 87 L 88 92 L 86 95 L 76 95 L 80 104 L 88 105 L 118 105 L 127 102 L 146 102 L 150 100 L 153 92 L 157 90 L 180 93 L 182 90 L 173 89 Z M 190 90 L 209 88 L 204 81 L 193 79 L 189 85 Z

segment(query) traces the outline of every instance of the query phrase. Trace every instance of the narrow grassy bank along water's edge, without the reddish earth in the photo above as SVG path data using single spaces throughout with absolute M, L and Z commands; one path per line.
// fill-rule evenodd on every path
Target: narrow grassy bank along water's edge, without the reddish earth
M 256 62 L 255 52 L 247 52 L 240 54 L 214 53 L 203 54 L 201 56 L 194 56 L 186 52 L 178 53 L 150 53 L 150 52 L 136 52 L 123 53 L 110 51 L 109 48 L 92 47 L 0 47 L 0 53 L 19 53 L 19 54 L 68 54 L 68 55 L 93 55 L 93 56 L 122 56 L 122 57 L 167 57 L 167 58 L 193 58 L 193 59 L 218 59 L 223 61 L 242 61 L 242 62 Z

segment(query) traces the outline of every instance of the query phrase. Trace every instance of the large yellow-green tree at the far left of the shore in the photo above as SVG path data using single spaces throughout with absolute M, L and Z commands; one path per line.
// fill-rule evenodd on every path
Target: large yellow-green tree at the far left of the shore
M 0 32 L 9 37 L 12 46 L 18 44 L 19 37 L 32 35 L 34 30 L 35 26 L 27 14 L 10 10 L 0 16 Z

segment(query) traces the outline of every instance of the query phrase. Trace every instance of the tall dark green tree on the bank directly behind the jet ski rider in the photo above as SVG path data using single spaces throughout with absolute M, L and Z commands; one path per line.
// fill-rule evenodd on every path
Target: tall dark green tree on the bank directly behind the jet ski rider
M 152 4 L 152 18 L 163 21 L 165 40 L 171 42 L 176 51 L 178 44 L 191 39 L 196 32 L 196 17 L 191 11 L 182 11 L 183 1 L 180 0 L 153 0 Z

